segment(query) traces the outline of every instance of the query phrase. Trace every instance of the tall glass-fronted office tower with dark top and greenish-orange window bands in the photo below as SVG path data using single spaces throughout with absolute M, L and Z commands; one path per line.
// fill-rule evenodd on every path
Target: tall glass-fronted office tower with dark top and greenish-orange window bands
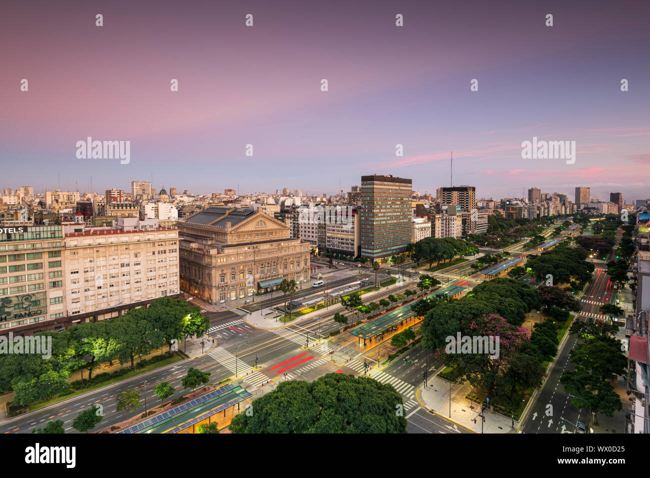
M 361 176 L 361 256 L 375 261 L 411 242 L 411 179 Z

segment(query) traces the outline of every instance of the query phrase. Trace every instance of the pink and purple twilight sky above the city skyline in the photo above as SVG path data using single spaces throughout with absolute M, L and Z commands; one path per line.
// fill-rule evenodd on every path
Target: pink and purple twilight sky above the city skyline
M 450 185 L 453 152 L 454 185 L 477 198 L 539 187 L 573 200 L 576 186 L 601 200 L 650 197 L 645 0 L 0 8 L 0 188 L 83 192 L 92 176 L 100 193 L 142 180 L 335 194 L 393 174 L 435 194 Z M 87 137 L 130 141 L 129 163 L 78 159 Z M 575 141 L 575 163 L 523 159 L 533 137 Z

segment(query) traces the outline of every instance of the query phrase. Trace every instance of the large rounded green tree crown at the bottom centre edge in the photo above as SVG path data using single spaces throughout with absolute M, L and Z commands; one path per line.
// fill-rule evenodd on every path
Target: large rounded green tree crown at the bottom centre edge
M 253 401 L 255 413 L 231 421 L 233 433 L 406 433 L 402 396 L 367 377 L 328 373 L 290 380 Z

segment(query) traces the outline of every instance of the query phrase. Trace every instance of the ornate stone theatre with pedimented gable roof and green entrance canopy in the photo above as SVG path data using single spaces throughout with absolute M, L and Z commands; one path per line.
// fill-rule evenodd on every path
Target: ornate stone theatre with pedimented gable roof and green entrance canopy
M 309 243 L 263 212 L 208 207 L 177 222 L 181 290 L 218 304 L 309 281 Z

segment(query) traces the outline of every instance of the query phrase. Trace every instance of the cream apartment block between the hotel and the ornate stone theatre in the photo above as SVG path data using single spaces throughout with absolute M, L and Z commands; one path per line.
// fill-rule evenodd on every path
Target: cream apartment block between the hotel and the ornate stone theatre
M 62 258 L 66 315 L 109 319 L 119 315 L 115 308 L 122 304 L 179 293 L 178 257 L 175 229 L 89 228 L 66 235 Z M 96 315 L 88 317 L 89 313 Z

